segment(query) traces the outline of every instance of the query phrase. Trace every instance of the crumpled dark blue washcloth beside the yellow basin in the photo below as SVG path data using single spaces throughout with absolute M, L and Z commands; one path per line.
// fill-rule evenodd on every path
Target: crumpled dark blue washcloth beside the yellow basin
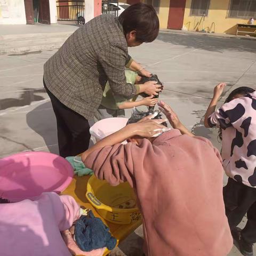
M 79 248 L 84 252 L 107 247 L 113 250 L 116 246 L 116 238 L 111 236 L 109 228 L 100 218 L 95 218 L 93 212 L 89 216 L 82 215 L 75 224 L 75 240 Z

